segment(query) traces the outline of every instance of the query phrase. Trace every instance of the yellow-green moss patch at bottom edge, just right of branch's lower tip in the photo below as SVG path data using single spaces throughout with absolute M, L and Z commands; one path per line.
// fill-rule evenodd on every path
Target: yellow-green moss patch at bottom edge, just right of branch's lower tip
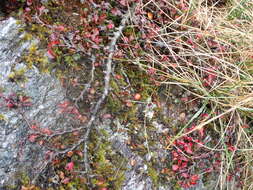
M 96 176 L 92 179 L 92 184 L 97 187 L 121 189 L 125 179 L 125 168 L 122 167 L 122 163 L 126 161 L 112 150 L 107 132 L 102 129 L 99 133 L 103 135 L 98 136 L 95 132 L 92 133 L 92 143 L 89 144 L 92 171 Z

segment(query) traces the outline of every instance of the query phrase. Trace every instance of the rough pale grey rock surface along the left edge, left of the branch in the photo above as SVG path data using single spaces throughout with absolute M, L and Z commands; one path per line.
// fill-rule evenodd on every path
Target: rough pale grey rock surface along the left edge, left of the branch
M 9 18 L 0 22 L 0 88 L 3 96 L 22 93 L 29 96 L 32 105 L 25 110 L 29 121 L 36 121 L 41 128 L 64 126 L 57 104 L 64 99 L 65 91 L 58 80 L 42 75 L 36 68 L 27 70 L 26 81 L 20 85 L 9 80 L 13 69 L 25 68 L 18 58 L 32 42 L 21 42 L 24 33 L 20 32 L 16 20 Z M 20 112 L 6 107 L 6 101 L 0 99 L 0 189 L 6 184 L 16 182 L 16 173 L 21 171 L 36 174 L 43 162 L 43 151 L 39 145 L 28 140 L 28 125 Z M 60 123 L 59 123 L 60 122 Z M 65 124 L 66 125 L 66 124 Z

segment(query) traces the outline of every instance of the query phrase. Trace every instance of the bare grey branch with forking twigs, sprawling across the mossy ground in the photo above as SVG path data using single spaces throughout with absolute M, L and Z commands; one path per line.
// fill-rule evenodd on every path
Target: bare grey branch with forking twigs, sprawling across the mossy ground
M 57 149 L 53 149 L 50 147 L 47 147 L 48 150 L 52 151 L 53 153 L 50 155 L 50 158 L 48 159 L 47 162 L 44 163 L 41 171 L 36 175 L 36 177 L 33 179 L 33 183 L 36 182 L 38 176 L 40 175 L 40 173 L 47 168 L 48 164 L 50 164 L 50 162 L 57 156 L 59 155 L 64 155 L 69 151 L 75 150 L 77 149 L 81 144 L 84 144 L 84 148 L 83 148 L 83 153 L 84 153 L 84 166 L 85 166 L 85 172 L 84 173 L 88 173 L 88 171 L 90 170 L 90 166 L 89 166 L 89 161 L 88 161 L 88 150 L 87 150 L 87 142 L 90 136 L 90 133 L 92 131 L 92 128 L 94 127 L 94 121 L 97 118 L 97 114 L 101 108 L 101 105 L 103 104 L 103 102 L 105 101 L 106 97 L 109 94 L 110 91 L 110 79 L 111 79 L 111 74 L 112 74 L 112 61 L 113 61 L 113 55 L 115 53 L 116 50 L 116 46 L 117 46 L 117 41 L 120 38 L 123 29 L 125 28 L 128 19 L 130 18 L 131 15 L 131 11 L 129 11 L 125 16 L 123 16 L 123 19 L 121 21 L 120 26 L 116 29 L 116 31 L 114 32 L 113 37 L 111 38 L 111 42 L 108 45 L 108 58 L 106 59 L 106 69 L 104 71 L 105 76 L 104 76 L 104 90 L 103 93 L 101 95 L 101 97 L 99 98 L 99 100 L 97 101 L 97 103 L 95 104 L 95 106 L 93 107 L 93 109 L 91 110 L 91 116 L 89 119 L 89 122 L 86 125 L 80 126 L 78 128 L 73 128 L 71 130 L 68 131 L 63 131 L 63 132 L 58 132 L 52 135 L 44 135 L 45 138 L 47 139 L 51 139 L 52 137 L 58 136 L 58 135 L 65 135 L 68 133 L 72 133 L 74 131 L 82 131 L 85 130 L 84 132 L 84 136 L 82 138 L 79 139 L 79 141 L 77 141 L 74 145 L 72 145 L 71 147 L 68 147 L 64 150 L 57 150 Z M 93 57 L 93 60 L 94 57 Z M 78 99 L 76 100 L 75 103 L 78 102 L 78 100 L 82 99 L 82 97 L 84 96 L 84 94 L 86 93 L 87 89 L 90 87 L 91 83 L 94 80 L 94 62 L 92 63 L 93 67 L 92 67 L 92 79 L 90 80 L 90 82 L 87 84 L 86 88 L 81 92 L 80 96 L 78 97 Z M 27 120 L 26 120 L 27 121 Z M 28 121 L 27 121 L 28 122 Z M 29 123 L 29 122 L 28 122 Z

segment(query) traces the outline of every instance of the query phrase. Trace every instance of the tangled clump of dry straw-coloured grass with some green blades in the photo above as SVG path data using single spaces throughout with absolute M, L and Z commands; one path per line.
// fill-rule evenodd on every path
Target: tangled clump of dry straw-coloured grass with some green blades
M 165 2 L 179 9 L 178 1 Z M 154 69 L 161 84 L 177 84 L 211 105 L 208 119 L 187 133 L 185 126 L 168 147 L 174 140 L 212 125 L 219 134 L 218 143 L 207 148 L 220 151 L 222 157 L 217 189 L 233 188 L 226 180 L 231 172 L 241 175 L 243 189 L 253 189 L 253 1 L 208 5 L 207 0 L 191 0 L 186 4 L 189 8 L 178 10 L 180 14 L 168 24 L 157 29 L 142 26 L 154 36 L 146 41 L 149 51 L 142 56 L 136 56 L 131 49 L 132 59 L 142 69 Z M 141 9 L 153 11 L 154 16 L 160 11 L 171 19 L 158 1 L 145 2 Z M 138 19 L 132 18 L 134 27 Z M 154 18 L 148 22 L 157 23 Z M 137 37 L 135 40 L 143 43 Z M 167 60 L 162 59 L 164 55 Z M 228 136 L 233 138 L 236 151 L 228 149 Z

